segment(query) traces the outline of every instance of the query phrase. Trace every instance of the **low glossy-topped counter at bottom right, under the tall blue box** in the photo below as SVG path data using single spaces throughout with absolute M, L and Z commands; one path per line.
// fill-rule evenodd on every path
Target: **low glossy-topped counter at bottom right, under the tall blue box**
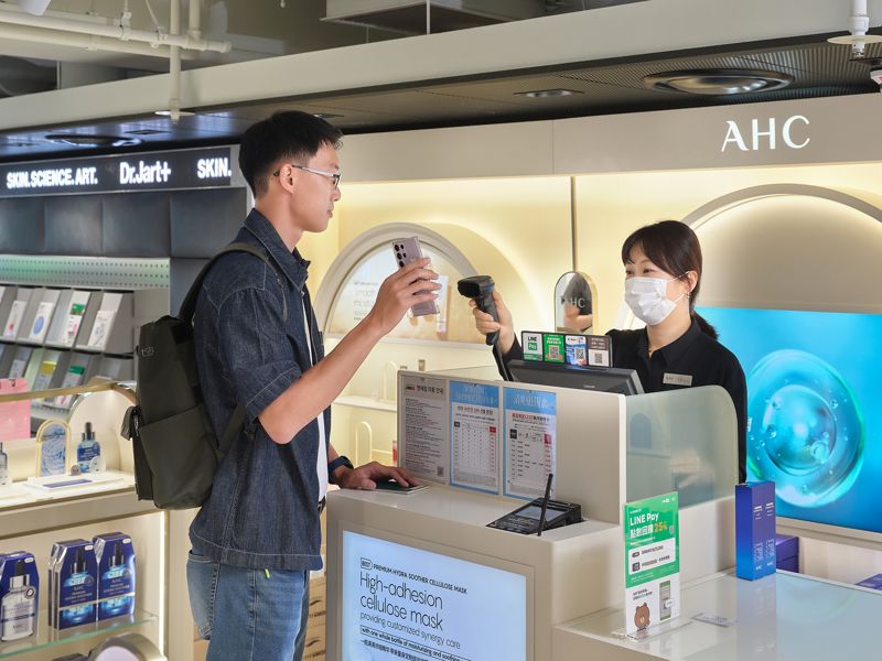
M 556 661 L 778 661 L 876 659 L 882 594 L 778 572 L 757 581 L 716 574 L 682 588 L 679 621 L 634 640 L 625 614 L 607 609 L 553 629 Z M 695 619 L 716 618 L 714 624 Z M 835 650 L 835 651 L 832 651 Z

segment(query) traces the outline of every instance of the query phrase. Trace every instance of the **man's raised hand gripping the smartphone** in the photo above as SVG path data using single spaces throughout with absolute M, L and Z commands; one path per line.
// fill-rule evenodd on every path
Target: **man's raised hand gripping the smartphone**
M 438 299 L 434 293 L 441 289 L 438 273 L 428 267 L 429 259 L 423 257 L 383 281 L 374 307 L 367 315 L 381 335 L 395 328 L 412 305 Z

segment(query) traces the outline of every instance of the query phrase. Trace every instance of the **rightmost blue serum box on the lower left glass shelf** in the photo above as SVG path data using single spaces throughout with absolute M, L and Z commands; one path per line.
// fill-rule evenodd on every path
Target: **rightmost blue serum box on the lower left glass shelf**
M 98 561 L 98 619 L 135 613 L 135 546 L 122 532 L 93 540 Z

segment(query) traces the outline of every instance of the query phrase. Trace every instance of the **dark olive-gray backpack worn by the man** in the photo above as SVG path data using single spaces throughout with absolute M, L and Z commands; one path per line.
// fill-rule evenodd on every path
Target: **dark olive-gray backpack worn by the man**
M 141 326 L 135 351 L 138 404 L 126 413 L 122 435 L 132 442 L 135 487 L 139 500 L 163 509 L 201 506 L 212 491 L 220 459 L 239 434 L 245 408 L 239 403 L 218 440 L 200 388 L 193 344 L 193 315 L 202 282 L 227 252 L 249 252 L 281 280 L 267 254 L 248 243 L 230 243 L 203 267 L 181 304 L 179 316 Z M 283 302 L 283 318 L 288 307 Z

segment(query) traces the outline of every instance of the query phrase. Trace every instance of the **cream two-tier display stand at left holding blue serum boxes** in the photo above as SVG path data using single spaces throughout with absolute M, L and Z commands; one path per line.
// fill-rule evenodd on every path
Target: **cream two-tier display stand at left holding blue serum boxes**
M 31 397 L 54 398 L 58 391 L 3 395 L 2 402 Z M 169 513 L 135 494 L 131 445 L 119 436 L 126 408 L 132 403 L 130 389 L 115 382 L 96 382 L 75 389 L 78 394 L 68 418 L 72 429 L 93 424 L 101 444 L 107 469 L 82 476 L 33 477 L 33 440 L 12 440 L 4 444 L 10 458 L 12 485 L 0 487 L 0 553 L 25 550 L 33 553 L 40 573 L 40 609 L 35 636 L 0 643 L 0 659 L 19 654 L 47 659 L 73 652 L 87 652 L 101 638 L 120 629 L 147 636 L 165 649 L 168 604 L 183 595 L 182 584 L 169 582 L 168 553 L 180 545 L 180 529 L 170 525 Z M 103 399 L 106 398 L 106 399 Z M 60 412 L 56 410 L 55 412 Z M 68 446 L 68 453 L 74 444 Z M 85 481 L 87 480 L 87 481 Z M 121 531 L 132 539 L 136 552 L 137 592 L 133 616 L 58 631 L 49 626 L 47 566 L 52 544 L 60 540 L 92 540 L 96 534 Z M 47 651 L 51 649 L 51 652 Z

